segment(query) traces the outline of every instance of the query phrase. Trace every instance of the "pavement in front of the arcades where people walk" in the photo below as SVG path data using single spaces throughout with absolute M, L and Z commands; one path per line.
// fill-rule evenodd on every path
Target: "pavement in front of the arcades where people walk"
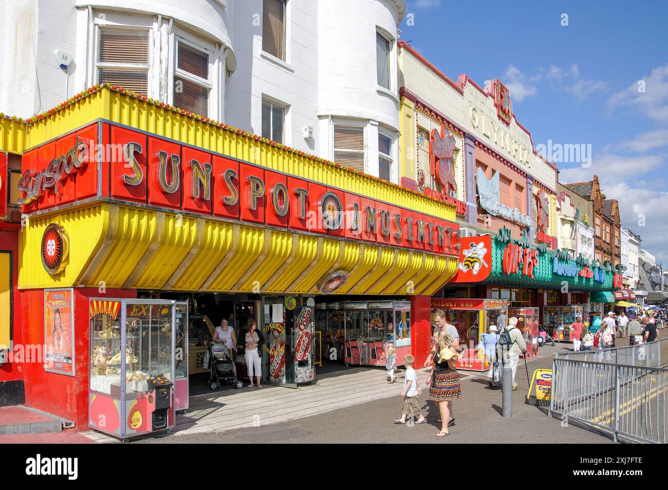
M 540 348 L 538 356 L 527 360 L 529 376 L 535 369 L 551 368 L 554 353 L 568 348 L 570 344 Z M 427 371 L 420 370 L 418 376 L 424 384 Z M 392 423 L 401 416 L 403 373 L 398 378 L 387 384 L 383 369 L 349 368 L 296 389 L 266 385 L 192 396 L 174 432 L 130 443 L 612 443 L 607 435 L 549 418 L 546 408 L 524 403 L 528 380 L 522 360 L 512 418 L 501 416 L 502 392 L 490 390 L 486 373 L 460 372 L 462 400 L 452 404 L 456 421 L 445 438 L 435 437 L 440 424 L 436 405 L 427 400 L 428 390 L 421 397 L 427 424 Z M 76 434 L 86 442 L 118 443 L 94 431 Z M 5 442 L 2 437 L 0 443 Z M 53 439 L 63 441 L 78 442 Z

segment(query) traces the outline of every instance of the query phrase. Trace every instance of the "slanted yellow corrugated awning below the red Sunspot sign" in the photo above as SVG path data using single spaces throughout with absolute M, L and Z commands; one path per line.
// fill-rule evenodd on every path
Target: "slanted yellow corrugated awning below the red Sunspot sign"
M 41 236 L 58 223 L 69 236 L 59 275 L 39 261 Z M 104 287 L 316 294 L 337 270 L 337 294 L 432 295 L 456 257 L 331 236 L 254 227 L 112 203 L 33 217 L 21 233 L 19 287 Z

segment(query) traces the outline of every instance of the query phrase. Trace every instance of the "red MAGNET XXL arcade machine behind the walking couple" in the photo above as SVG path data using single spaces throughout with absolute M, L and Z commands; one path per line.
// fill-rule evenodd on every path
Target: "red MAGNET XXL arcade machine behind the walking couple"
M 480 346 L 480 335 L 486 334 L 490 325 L 496 325 L 499 331 L 506 326 L 508 301 L 506 299 L 432 299 L 432 314 L 436 310 L 446 312 L 448 323 L 457 328 L 460 347 L 465 346 L 462 351 L 464 358 L 457 360 L 457 369 L 488 370 L 490 363 Z

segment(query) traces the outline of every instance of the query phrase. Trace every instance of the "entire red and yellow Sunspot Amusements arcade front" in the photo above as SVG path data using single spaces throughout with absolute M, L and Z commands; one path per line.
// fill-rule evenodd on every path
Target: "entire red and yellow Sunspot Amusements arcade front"
M 379 366 L 390 345 L 427 355 L 416 305 L 456 271 L 454 205 L 115 87 L 26 128 L 20 329 L 68 332 L 53 370 L 27 366 L 29 406 L 100 430 L 115 410 L 118 437 L 168 428 L 194 374 L 226 362 L 224 322 L 232 379 L 255 326 L 265 382 L 312 382 L 331 355 Z

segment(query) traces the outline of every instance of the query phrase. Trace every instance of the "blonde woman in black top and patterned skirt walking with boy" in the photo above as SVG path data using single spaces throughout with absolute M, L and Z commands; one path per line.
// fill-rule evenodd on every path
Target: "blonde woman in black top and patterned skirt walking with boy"
M 434 368 L 430 376 L 429 397 L 436 402 L 441 414 L 441 430 L 436 437 L 450 435 L 448 425 L 450 420 L 450 402 L 462 398 L 462 388 L 459 373 L 455 370 L 457 349 L 452 345 L 450 336 L 445 330 L 436 332 L 436 352 L 434 353 Z

